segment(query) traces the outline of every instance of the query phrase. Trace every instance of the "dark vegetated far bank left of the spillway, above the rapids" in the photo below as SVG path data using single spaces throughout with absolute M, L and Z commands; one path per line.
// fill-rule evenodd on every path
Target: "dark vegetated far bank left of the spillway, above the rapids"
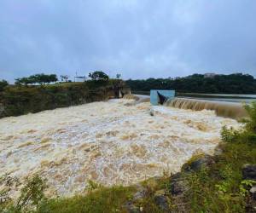
M 119 79 L 41 86 L 10 85 L 0 92 L 0 118 L 105 101 L 110 97 L 119 97 L 119 90 L 128 91 Z

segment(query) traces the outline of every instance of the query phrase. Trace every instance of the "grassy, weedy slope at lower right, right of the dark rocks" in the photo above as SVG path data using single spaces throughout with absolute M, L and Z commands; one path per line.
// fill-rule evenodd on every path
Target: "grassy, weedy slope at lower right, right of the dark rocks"
M 237 141 L 220 147 L 223 153 L 214 157 L 215 164 L 189 176 L 185 202 L 191 212 L 246 212 L 248 192 L 241 168 L 256 164 L 256 145 Z

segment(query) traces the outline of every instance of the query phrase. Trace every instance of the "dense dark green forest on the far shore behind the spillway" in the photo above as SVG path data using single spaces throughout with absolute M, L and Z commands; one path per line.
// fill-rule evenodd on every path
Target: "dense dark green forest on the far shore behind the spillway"
M 256 79 L 251 75 L 234 73 L 230 75 L 193 74 L 184 78 L 148 78 L 127 80 L 132 91 L 150 89 L 175 89 L 187 93 L 256 94 Z

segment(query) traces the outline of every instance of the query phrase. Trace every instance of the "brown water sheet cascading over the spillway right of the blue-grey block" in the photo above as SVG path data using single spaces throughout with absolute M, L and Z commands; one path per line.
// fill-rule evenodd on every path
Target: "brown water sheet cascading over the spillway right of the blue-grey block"
M 193 111 L 201 111 L 204 109 L 214 110 L 216 115 L 226 118 L 239 119 L 247 117 L 247 112 L 240 103 L 175 98 L 166 101 L 165 106 L 180 109 L 190 109 Z

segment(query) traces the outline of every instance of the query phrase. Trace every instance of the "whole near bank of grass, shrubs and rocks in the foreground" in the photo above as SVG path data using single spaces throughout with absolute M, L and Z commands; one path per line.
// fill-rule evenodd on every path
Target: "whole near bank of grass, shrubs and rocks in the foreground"
M 15 181 L 7 176 L 0 192 L 3 212 L 254 212 L 249 193 L 255 181 L 242 176 L 245 164 L 256 164 L 256 103 L 242 130 L 223 128 L 223 142 L 213 156 L 194 156 L 178 174 L 152 178 L 137 186 L 103 187 L 93 181 L 84 194 L 46 198 L 45 181 L 32 176 L 17 201 L 9 199 Z M 203 160 L 202 160 L 203 159 Z M 177 178 L 178 175 L 178 178 Z M 9 181 L 8 181 L 9 180 Z M 1 184 L 0 184 L 1 185 Z

